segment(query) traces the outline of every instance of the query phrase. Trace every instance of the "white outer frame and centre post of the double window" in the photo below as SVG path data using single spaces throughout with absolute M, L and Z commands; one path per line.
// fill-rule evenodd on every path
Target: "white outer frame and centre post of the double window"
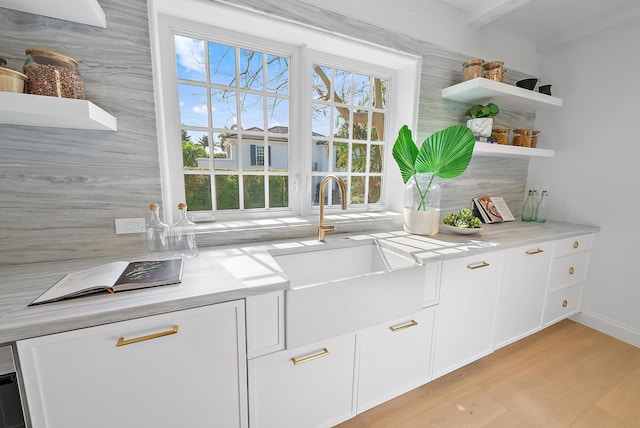
M 158 124 L 158 150 L 160 158 L 163 205 L 165 221 L 173 221 L 177 215 L 177 204 L 183 202 L 179 195 L 184 194 L 182 163 L 174 162 L 177 156 L 182 158 L 181 148 L 172 142 L 180 135 L 179 107 L 176 100 L 177 76 L 175 66 L 174 32 L 186 33 L 204 40 L 225 42 L 225 34 L 233 34 L 229 44 L 237 40 L 246 41 L 249 46 L 274 53 L 291 56 L 290 70 L 290 146 L 289 146 L 289 206 L 290 209 L 278 209 L 260 212 L 231 212 L 228 215 L 216 213 L 218 220 L 281 217 L 291 215 L 307 216 L 317 212 L 318 207 L 311 205 L 311 153 L 308 141 L 311 135 L 311 64 L 314 61 L 344 68 L 351 64 L 354 70 L 388 77 L 392 85 L 392 96 L 387 100 L 386 137 L 384 149 L 384 176 L 382 194 L 385 208 L 400 211 L 402 209 L 400 174 L 391 156 L 393 135 L 403 124 L 415 129 L 417 123 L 417 104 L 421 58 L 415 55 L 397 52 L 367 42 L 348 37 L 337 36 L 326 31 L 292 23 L 276 17 L 266 16 L 244 8 L 201 2 L 198 0 L 149 0 L 151 28 L 151 51 L 154 70 L 154 89 L 156 94 L 156 114 Z M 211 17 L 214 16 L 214 24 Z M 238 25 L 242 23 L 242 25 Z M 242 28 L 242 34 L 237 33 Z M 294 41 L 296 44 L 292 44 Z M 351 58 L 338 62 L 338 55 L 344 52 Z M 376 58 L 380 64 L 392 67 L 370 65 L 370 59 Z M 368 65 L 369 64 L 369 65 Z M 299 72 L 309 70 L 309 72 Z M 385 71 L 384 73 L 381 73 Z M 296 108 L 295 106 L 301 106 Z M 297 144 L 296 142 L 303 142 Z M 300 161 L 303 159 L 304 161 Z M 394 189 L 391 190 L 390 189 Z M 171 208 L 171 209 L 168 209 Z M 328 209 L 328 212 L 331 212 Z

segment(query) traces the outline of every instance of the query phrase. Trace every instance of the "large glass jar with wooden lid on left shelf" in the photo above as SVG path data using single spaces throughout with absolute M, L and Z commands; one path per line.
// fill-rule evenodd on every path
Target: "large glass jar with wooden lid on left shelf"
M 70 56 L 44 49 L 26 49 L 23 71 L 27 93 L 59 98 L 84 99 L 84 82 L 78 73 L 78 61 Z

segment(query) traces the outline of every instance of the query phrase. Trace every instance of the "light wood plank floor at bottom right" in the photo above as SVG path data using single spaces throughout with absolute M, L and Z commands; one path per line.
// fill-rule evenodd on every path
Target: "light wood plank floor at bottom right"
M 640 349 L 565 320 L 338 427 L 640 427 Z

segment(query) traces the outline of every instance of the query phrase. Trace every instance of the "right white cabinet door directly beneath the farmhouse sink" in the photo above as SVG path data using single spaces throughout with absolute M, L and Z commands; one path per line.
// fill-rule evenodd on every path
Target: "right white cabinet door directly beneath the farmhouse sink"
M 434 308 L 358 333 L 357 412 L 430 380 Z

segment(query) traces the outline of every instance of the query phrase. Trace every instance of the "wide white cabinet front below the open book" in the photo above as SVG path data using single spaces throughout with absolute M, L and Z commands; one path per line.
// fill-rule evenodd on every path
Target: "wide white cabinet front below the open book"
M 244 304 L 17 342 L 33 428 L 246 427 Z

